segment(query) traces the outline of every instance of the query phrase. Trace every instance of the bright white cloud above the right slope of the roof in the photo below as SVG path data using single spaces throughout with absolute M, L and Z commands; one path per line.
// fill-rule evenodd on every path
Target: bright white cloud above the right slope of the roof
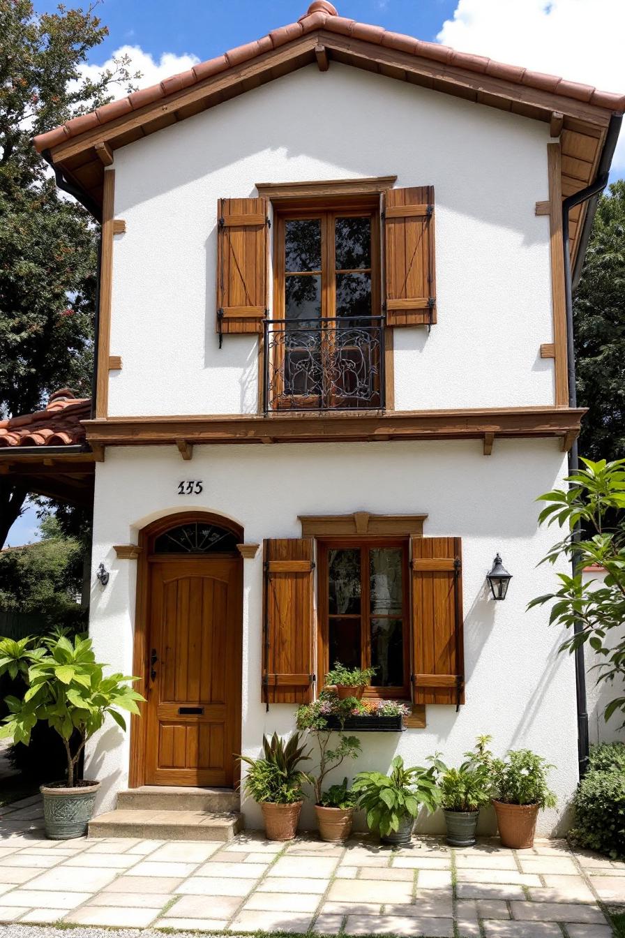
M 439 42 L 534 71 L 625 92 L 624 0 L 458 0 Z M 625 172 L 625 134 L 613 168 Z

